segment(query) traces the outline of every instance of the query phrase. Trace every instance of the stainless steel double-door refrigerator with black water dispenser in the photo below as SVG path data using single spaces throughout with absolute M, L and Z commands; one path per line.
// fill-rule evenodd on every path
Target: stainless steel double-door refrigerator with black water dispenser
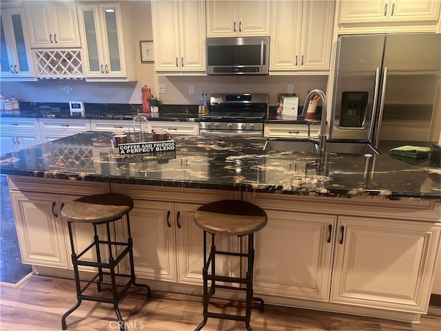
M 441 34 L 341 36 L 330 139 L 429 141 Z

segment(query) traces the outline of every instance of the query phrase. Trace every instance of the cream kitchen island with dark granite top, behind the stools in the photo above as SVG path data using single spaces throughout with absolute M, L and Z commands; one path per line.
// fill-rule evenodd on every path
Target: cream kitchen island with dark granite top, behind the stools
M 2 155 L 23 261 L 72 277 L 59 210 L 81 195 L 120 192 L 135 201 L 138 277 L 152 288 L 201 293 L 202 234 L 193 212 L 243 199 L 269 217 L 256 235 L 254 274 L 267 302 L 403 321 L 427 312 L 441 236 L 441 174 L 428 158 L 396 159 L 384 146 L 379 155 L 317 159 L 265 151 L 263 138 L 173 138 L 176 151 L 156 155 L 116 154 L 109 132 Z M 119 226 L 116 237 L 125 233 Z M 75 238 L 79 248 L 90 243 L 90 229 L 76 226 Z M 225 237 L 220 245 L 243 241 Z M 233 258 L 218 268 L 241 272 Z

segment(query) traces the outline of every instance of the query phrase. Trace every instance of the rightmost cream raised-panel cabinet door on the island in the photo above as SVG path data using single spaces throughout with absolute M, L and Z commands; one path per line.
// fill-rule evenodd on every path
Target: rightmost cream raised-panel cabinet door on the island
M 440 228 L 339 217 L 331 302 L 427 312 Z

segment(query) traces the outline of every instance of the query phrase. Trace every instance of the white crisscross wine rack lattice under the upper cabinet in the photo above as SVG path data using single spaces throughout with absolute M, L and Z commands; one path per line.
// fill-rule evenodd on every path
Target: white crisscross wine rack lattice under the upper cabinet
M 81 50 L 34 50 L 34 54 L 39 78 L 84 78 Z

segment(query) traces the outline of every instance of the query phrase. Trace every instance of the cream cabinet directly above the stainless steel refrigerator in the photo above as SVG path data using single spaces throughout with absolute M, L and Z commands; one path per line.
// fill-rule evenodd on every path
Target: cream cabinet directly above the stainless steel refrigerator
M 339 32 L 435 32 L 440 18 L 438 0 L 376 0 L 341 2 Z

